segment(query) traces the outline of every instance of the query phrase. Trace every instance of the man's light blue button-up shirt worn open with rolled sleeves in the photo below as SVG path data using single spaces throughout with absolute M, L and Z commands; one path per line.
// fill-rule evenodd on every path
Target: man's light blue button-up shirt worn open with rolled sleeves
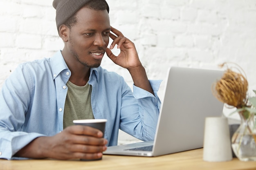
M 63 130 L 66 83 L 71 76 L 58 51 L 53 57 L 20 64 L 6 79 L 0 92 L 0 158 L 12 157 L 41 136 Z M 161 81 L 150 80 L 154 94 L 133 85 L 115 72 L 91 68 L 92 111 L 95 119 L 108 119 L 105 138 L 117 145 L 119 128 L 144 140 L 153 140 L 161 102 Z

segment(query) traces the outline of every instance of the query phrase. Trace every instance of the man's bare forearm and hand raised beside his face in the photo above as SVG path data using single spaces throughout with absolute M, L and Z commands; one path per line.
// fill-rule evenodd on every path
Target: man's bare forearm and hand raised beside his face
M 110 49 L 106 50 L 108 57 L 115 64 L 128 69 L 135 86 L 153 94 L 153 90 L 148 81 L 145 68 L 139 61 L 139 56 L 134 43 L 131 42 L 128 38 L 124 37 L 124 35 L 117 29 L 111 27 L 111 31 L 117 36 L 110 33 L 110 38 L 112 38 L 113 42 L 110 45 Z M 111 49 L 114 48 L 115 44 L 117 44 L 117 48 L 120 49 L 120 54 L 118 56 L 115 56 L 111 52 Z

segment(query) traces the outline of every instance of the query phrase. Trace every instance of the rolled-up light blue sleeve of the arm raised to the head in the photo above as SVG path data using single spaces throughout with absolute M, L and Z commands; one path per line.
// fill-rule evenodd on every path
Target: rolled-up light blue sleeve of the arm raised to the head
M 157 96 L 161 82 L 150 80 L 154 95 L 133 85 L 133 97 L 122 97 L 121 130 L 143 141 L 154 140 L 161 107 Z

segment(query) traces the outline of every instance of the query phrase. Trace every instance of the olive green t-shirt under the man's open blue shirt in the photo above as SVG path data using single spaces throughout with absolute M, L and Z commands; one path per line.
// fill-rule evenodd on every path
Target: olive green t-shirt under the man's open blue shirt
M 73 120 L 94 119 L 91 104 L 92 86 L 88 83 L 85 86 L 76 86 L 68 81 L 67 87 L 63 129 L 74 125 Z

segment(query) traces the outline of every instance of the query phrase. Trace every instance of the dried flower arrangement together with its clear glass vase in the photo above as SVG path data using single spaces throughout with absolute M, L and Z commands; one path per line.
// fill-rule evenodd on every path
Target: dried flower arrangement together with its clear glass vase
M 237 64 L 236 67 L 229 67 L 228 64 L 231 63 L 220 65 L 227 66 L 227 70 L 213 84 L 212 92 L 220 102 L 235 107 L 233 113 L 240 115 L 241 124 L 231 139 L 234 153 L 241 161 L 256 161 L 256 97 L 248 95 L 248 82 L 243 69 Z

